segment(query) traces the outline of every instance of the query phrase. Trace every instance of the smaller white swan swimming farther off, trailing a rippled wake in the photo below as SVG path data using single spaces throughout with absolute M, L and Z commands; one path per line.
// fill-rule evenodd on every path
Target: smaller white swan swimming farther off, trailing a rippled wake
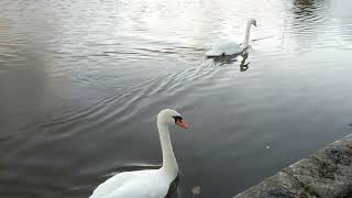
M 244 41 L 242 44 L 238 44 L 234 41 L 223 38 L 217 42 L 212 48 L 207 52 L 208 57 L 213 57 L 213 56 L 226 56 L 226 55 L 235 55 L 235 54 L 241 54 L 249 45 L 250 41 L 250 30 L 251 25 L 256 26 L 256 21 L 255 19 L 250 19 L 246 23 L 246 29 L 245 29 L 245 36 Z

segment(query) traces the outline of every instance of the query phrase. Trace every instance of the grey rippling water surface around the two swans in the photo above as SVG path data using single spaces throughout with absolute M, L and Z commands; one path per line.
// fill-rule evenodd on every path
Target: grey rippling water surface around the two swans
M 174 197 L 231 197 L 352 132 L 351 0 L 1 0 L 0 197 L 87 198 L 155 168 Z M 224 35 L 248 56 L 207 59 Z M 193 195 L 193 187 L 200 187 Z

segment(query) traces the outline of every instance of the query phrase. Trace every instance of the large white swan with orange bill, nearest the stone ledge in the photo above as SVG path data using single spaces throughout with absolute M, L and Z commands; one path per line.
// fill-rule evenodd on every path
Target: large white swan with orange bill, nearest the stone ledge
M 188 124 L 180 114 L 165 109 L 157 114 L 157 129 L 162 143 L 163 166 L 160 169 L 123 172 L 100 184 L 90 198 L 164 198 L 169 185 L 178 174 L 168 127 L 177 124 L 184 129 Z

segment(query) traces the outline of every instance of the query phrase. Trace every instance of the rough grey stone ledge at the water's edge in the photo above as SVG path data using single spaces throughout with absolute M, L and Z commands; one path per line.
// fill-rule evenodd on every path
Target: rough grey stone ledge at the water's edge
M 352 134 L 316 152 L 233 198 L 352 197 Z

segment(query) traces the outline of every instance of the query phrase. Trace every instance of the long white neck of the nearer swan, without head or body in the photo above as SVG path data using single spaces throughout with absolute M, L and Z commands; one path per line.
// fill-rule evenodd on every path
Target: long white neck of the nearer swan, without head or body
M 162 169 L 172 174 L 175 179 L 178 173 L 177 162 L 174 155 L 172 141 L 169 139 L 168 127 L 166 124 L 157 122 L 158 135 L 162 144 L 163 152 L 163 166 Z

